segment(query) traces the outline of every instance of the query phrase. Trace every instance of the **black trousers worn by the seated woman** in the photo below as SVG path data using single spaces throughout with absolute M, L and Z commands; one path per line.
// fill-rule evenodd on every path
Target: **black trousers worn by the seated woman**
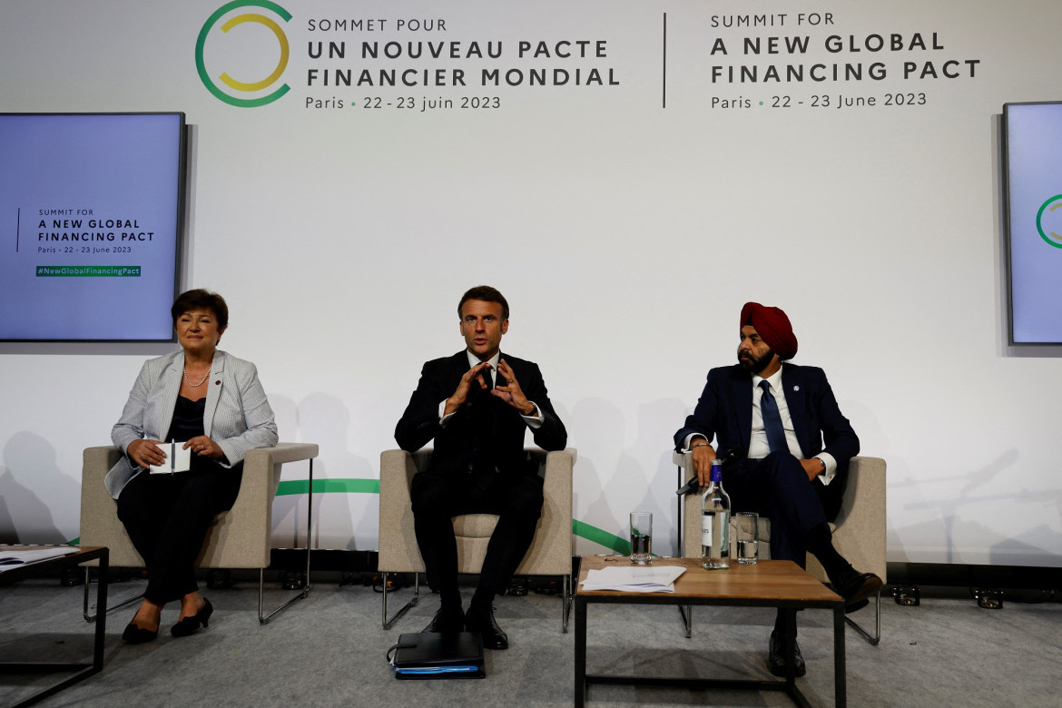
M 118 518 L 148 564 L 143 597 L 155 603 L 179 600 L 199 589 L 195 558 L 213 518 L 233 508 L 243 463 L 203 471 L 137 474 L 118 496 Z

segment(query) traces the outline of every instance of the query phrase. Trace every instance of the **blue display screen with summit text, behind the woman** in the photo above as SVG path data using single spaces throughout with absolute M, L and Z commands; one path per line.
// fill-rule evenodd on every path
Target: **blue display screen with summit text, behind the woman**
M 185 116 L 0 115 L 0 340 L 172 341 Z

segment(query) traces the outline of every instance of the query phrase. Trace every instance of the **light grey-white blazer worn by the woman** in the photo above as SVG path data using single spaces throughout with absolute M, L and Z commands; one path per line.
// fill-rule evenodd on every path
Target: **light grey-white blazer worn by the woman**
M 185 352 L 149 359 L 140 368 L 110 439 L 123 453 L 133 441 L 161 441 L 170 430 L 181 391 Z M 203 431 L 225 453 L 224 467 L 242 462 L 247 450 L 276 445 L 276 422 L 258 369 L 249 361 L 218 349 L 210 365 Z M 110 468 L 104 484 L 115 499 L 130 480 L 143 471 L 127 453 Z

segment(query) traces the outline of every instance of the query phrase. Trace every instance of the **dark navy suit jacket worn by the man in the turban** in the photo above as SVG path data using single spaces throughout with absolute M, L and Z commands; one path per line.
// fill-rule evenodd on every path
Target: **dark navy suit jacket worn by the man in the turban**
M 827 452 L 837 461 L 837 476 L 829 484 L 823 485 L 821 479 L 815 479 L 826 516 L 834 519 L 847 483 L 849 460 L 859 453 L 859 438 L 841 414 L 821 368 L 784 363 L 782 386 L 802 456 L 808 460 Z M 699 433 L 708 442 L 718 439 L 716 449 L 720 454 L 733 447 L 748 453 L 752 437 L 752 375 L 740 365 L 708 372 L 697 408 L 674 434 L 675 449 L 682 449 L 690 433 Z

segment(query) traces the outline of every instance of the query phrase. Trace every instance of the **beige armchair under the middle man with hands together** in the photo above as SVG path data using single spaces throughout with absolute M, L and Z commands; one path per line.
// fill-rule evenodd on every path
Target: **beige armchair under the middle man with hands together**
M 380 552 L 379 570 L 387 588 L 388 573 L 417 573 L 413 599 L 388 618 L 388 592 L 383 592 L 383 628 L 390 629 L 399 617 L 419 600 L 419 573 L 424 560 L 413 533 L 413 510 L 409 489 L 413 476 L 427 469 L 431 449 L 409 453 L 388 450 L 380 454 Z M 516 569 L 517 575 L 561 575 L 563 606 L 561 631 L 568 631 L 571 607 L 571 473 L 576 450 L 567 448 L 546 452 L 529 448 L 527 454 L 539 465 L 545 501 L 534 540 Z M 453 518 L 458 540 L 458 572 L 478 573 L 486 555 L 486 545 L 498 517 L 492 514 L 467 514 Z

